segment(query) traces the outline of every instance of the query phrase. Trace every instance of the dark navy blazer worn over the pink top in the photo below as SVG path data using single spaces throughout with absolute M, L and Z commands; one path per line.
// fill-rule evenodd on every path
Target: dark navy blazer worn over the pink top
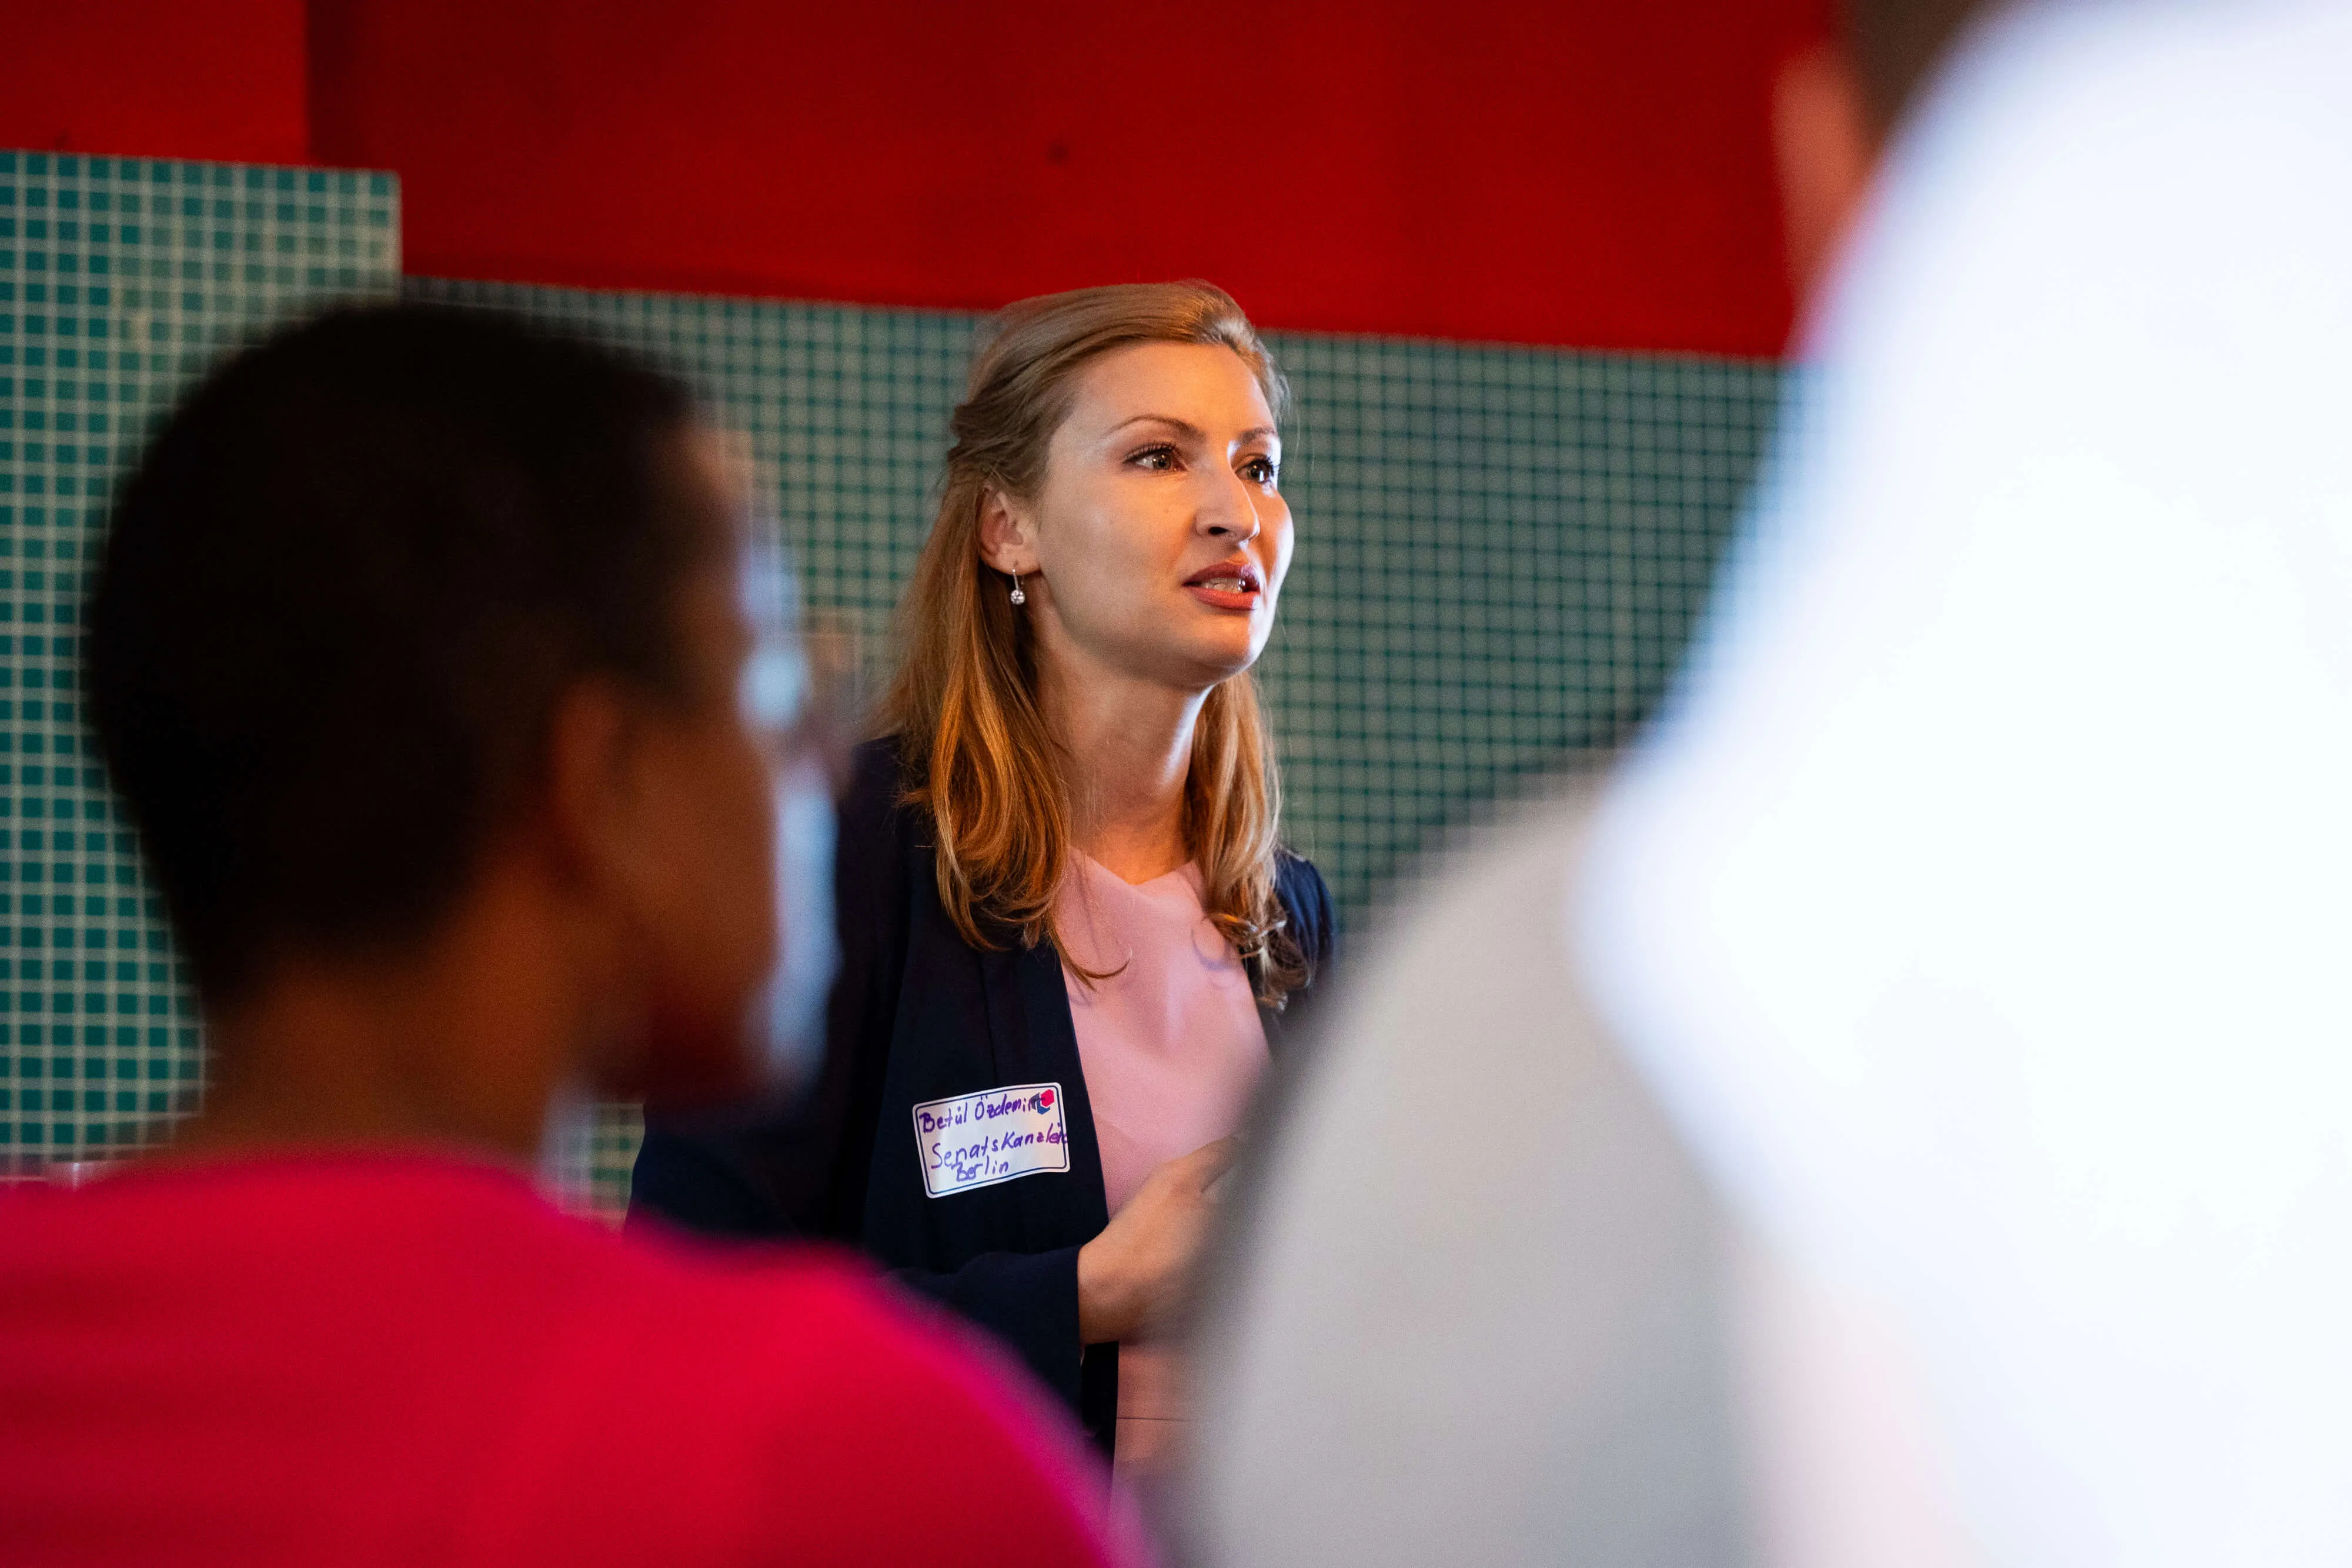
M 804 1237 L 863 1248 L 896 1276 L 1004 1340 L 1110 1448 L 1117 1347 L 1077 1340 L 1077 1248 L 1110 1222 L 1103 1157 L 1061 954 L 985 929 L 969 945 L 934 882 L 924 818 L 903 804 L 894 741 L 858 748 L 840 811 L 840 973 L 826 1063 L 783 1112 L 652 1119 L 630 1220 L 720 1237 Z M 1275 891 L 1310 976 L 1331 959 L 1331 891 L 1282 853 Z M 1310 990 L 1258 1009 L 1279 1053 Z M 913 1107 L 1007 1084 L 1061 1084 L 1070 1168 L 927 1197 Z

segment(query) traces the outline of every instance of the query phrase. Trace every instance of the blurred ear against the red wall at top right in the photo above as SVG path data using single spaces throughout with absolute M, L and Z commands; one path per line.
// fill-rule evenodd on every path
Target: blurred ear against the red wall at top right
M 1820 42 L 1780 63 L 1771 129 L 1788 273 L 1804 301 L 1837 259 L 1879 160 L 1879 134 L 1842 47 Z

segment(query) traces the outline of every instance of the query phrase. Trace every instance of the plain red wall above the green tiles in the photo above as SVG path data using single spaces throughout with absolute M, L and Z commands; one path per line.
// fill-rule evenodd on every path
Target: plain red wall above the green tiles
M 1816 5 L 80 0 L 56 49 L 148 68 L 0 66 L 0 143 L 397 169 L 412 273 L 1771 355 Z

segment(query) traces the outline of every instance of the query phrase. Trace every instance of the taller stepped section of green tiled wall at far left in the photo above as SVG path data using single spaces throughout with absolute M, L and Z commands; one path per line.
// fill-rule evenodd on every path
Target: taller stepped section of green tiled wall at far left
M 0 1171 L 160 1138 L 200 1041 L 80 724 L 108 491 L 228 343 L 400 287 L 388 174 L 0 153 Z

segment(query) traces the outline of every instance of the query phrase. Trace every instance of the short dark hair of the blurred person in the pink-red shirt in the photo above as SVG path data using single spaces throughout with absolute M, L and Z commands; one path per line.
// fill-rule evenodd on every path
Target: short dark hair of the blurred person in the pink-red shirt
M 489 313 L 339 310 L 247 348 L 129 477 L 89 717 L 195 983 L 423 938 L 590 670 L 682 689 L 710 550 L 668 376 Z

